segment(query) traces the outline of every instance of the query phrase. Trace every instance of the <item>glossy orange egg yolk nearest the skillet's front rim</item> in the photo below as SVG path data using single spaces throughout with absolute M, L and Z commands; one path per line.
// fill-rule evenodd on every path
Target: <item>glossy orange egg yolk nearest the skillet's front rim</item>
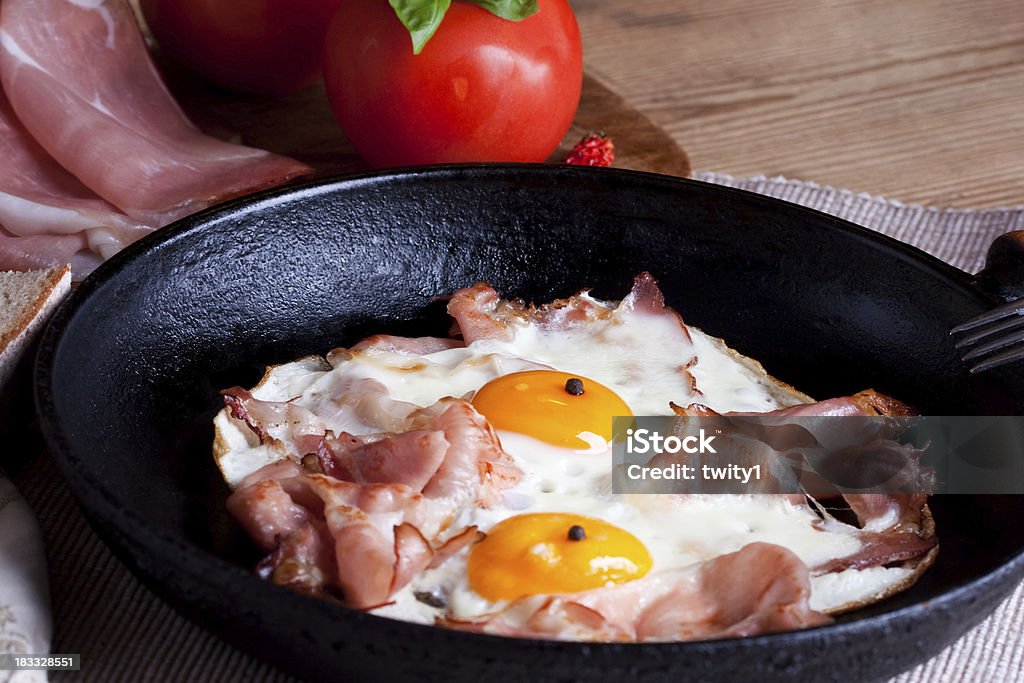
M 470 587 L 487 600 L 578 593 L 640 579 L 650 553 L 627 531 L 601 519 L 563 513 L 516 515 L 473 546 Z

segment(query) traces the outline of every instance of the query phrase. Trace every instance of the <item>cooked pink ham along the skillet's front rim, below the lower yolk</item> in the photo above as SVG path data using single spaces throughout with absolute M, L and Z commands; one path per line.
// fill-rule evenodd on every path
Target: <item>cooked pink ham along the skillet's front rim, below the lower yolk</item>
M 566 595 L 529 596 L 454 628 L 524 638 L 663 641 L 749 636 L 830 620 L 810 608 L 807 567 L 767 543 L 701 564 Z

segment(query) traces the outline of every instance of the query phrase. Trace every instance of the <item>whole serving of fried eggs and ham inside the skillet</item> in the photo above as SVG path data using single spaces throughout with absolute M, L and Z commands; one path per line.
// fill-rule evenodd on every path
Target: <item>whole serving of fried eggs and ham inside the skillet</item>
M 879 416 L 909 413 L 902 403 L 873 391 L 812 401 L 688 328 L 646 273 L 621 302 L 532 306 L 480 283 L 449 310 L 462 339 L 379 335 L 223 392 L 215 455 L 234 487 L 228 510 L 268 553 L 261 575 L 456 629 L 657 641 L 826 624 L 934 558 L 924 495 L 847 495 L 840 513 L 839 498 L 803 494 L 613 494 L 607 443 L 563 438 L 590 428 L 573 411 L 596 411 L 599 429 L 642 404 L 723 424 L 821 418 L 801 447 L 845 447 L 826 418 L 884 427 Z M 481 387 L 497 401 L 478 400 Z M 537 401 L 564 407 L 564 422 Z

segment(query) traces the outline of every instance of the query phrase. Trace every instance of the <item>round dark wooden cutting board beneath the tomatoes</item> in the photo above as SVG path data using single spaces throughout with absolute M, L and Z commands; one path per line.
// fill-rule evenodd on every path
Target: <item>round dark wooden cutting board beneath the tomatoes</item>
M 322 84 L 281 97 L 238 95 L 207 86 L 173 66 L 159 66 L 185 112 L 211 135 L 293 157 L 313 167 L 316 177 L 369 170 L 335 122 Z M 686 153 L 668 133 L 597 78 L 585 75 L 572 128 L 549 161 L 564 161 L 572 145 L 592 131 L 611 137 L 615 167 L 690 173 Z

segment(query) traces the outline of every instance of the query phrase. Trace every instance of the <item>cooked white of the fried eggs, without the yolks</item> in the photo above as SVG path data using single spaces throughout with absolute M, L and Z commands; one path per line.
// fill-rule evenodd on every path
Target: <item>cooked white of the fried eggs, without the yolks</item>
M 271 368 L 253 395 L 293 400 L 325 417 L 335 432 L 353 434 L 381 431 L 353 419 L 351 412 L 331 410 L 332 397 L 360 379 L 377 380 L 391 398 L 419 407 L 445 396 L 470 398 L 496 377 L 538 368 L 600 382 L 618 394 L 634 415 L 672 415 L 672 401 L 701 402 L 719 412 L 763 412 L 809 400 L 699 330 L 690 328 L 692 341 L 680 343 L 675 325 L 666 315 L 616 310 L 568 330 L 521 325 L 507 340 L 482 340 L 425 355 L 377 348 L 337 350 L 329 354 L 330 362 L 303 358 Z M 689 371 L 697 391 L 681 366 L 694 355 L 698 360 Z M 218 465 L 231 485 L 282 456 L 272 445 L 259 444 L 226 411 L 215 424 Z M 653 558 L 652 572 L 701 562 L 757 541 L 784 546 L 810 566 L 851 555 L 860 547 L 853 527 L 844 530 L 835 524 L 822 530 L 814 524 L 818 516 L 811 509 L 781 497 L 612 495 L 607 447 L 582 453 L 507 431 L 500 431 L 499 438 L 524 476 L 503 492 L 502 505 L 463 510 L 457 528 L 472 524 L 486 531 L 503 519 L 527 512 L 598 517 L 642 541 Z M 468 585 L 467 555 L 463 551 L 440 567 L 422 572 L 395 594 L 392 604 L 375 612 L 430 624 L 442 614 L 468 618 L 500 609 L 502 603 L 485 600 Z M 812 606 L 837 610 L 868 600 L 902 581 L 907 571 L 877 567 L 815 577 Z M 416 596 L 422 593 L 442 598 L 445 607 L 439 610 L 419 600 Z

